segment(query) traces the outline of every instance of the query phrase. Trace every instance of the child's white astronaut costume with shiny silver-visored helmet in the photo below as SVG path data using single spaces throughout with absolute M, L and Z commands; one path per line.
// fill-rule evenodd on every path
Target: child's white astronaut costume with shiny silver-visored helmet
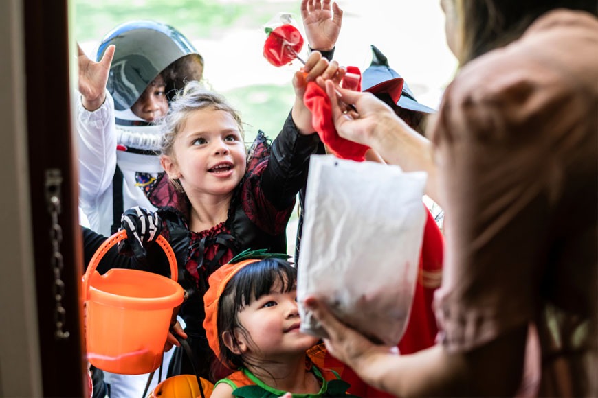
M 164 171 L 157 156 L 159 128 L 134 115 L 131 106 L 160 73 L 168 71 L 166 89 L 174 92 L 186 80 L 201 79 L 203 71 L 203 59 L 195 48 L 175 28 L 162 23 L 119 25 L 102 40 L 98 60 L 111 44 L 116 51 L 104 104 L 93 112 L 85 109 L 80 98 L 77 105 L 79 206 L 89 227 L 106 237 L 118 229 L 126 209 L 155 209 L 142 185 Z M 118 170 L 122 178 L 115 174 Z M 138 182 L 138 173 L 148 175 Z M 166 378 L 173 351 L 164 353 L 161 379 Z M 157 373 L 148 391 L 157 385 Z M 142 397 L 147 380 L 148 375 L 104 372 L 111 398 Z

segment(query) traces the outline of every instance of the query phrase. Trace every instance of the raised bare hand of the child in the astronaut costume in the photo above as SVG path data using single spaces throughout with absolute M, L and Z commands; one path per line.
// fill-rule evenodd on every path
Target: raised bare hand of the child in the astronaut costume
M 104 52 L 100 62 L 90 60 L 85 52 L 78 47 L 79 64 L 79 92 L 82 103 L 87 110 L 96 110 L 102 106 L 106 99 L 106 83 L 110 72 L 110 65 L 114 57 L 115 46 L 110 45 Z

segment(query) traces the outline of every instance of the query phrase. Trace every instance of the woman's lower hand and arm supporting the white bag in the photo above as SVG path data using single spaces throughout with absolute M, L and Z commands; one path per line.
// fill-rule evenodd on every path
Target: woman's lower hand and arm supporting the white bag
M 399 397 L 512 396 L 520 383 L 527 327 L 468 352 L 436 345 L 411 355 L 378 346 L 342 324 L 322 301 L 304 305 L 328 333 L 326 349 L 376 388 Z

